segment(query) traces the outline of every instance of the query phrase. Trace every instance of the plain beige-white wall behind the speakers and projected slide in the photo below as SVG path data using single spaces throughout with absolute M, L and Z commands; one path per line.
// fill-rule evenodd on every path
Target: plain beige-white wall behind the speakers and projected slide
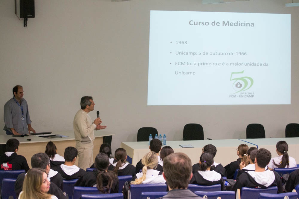
M 35 18 L 24 28 L 14 1 L 1 0 L 0 104 L 21 84 L 36 131 L 71 130 L 80 98 L 91 95 L 106 130 L 116 133 L 113 151 L 145 126 L 168 140 L 180 140 L 187 123 L 202 124 L 205 138 L 245 138 L 249 123 L 263 124 L 268 138 L 284 137 L 286 124 L 299 123 L 299 7 L 285 7 L 290 2 L 35 0 Z M 150 10 L 291 14 L 291 105 L 147 106 Z

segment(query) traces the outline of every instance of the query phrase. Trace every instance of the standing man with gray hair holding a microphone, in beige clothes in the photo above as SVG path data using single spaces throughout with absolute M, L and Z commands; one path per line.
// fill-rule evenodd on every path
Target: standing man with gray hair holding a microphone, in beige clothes
M 91 96 L 81 98 L 81 109 L 77 111 L 74 117 L 74 133 L 76 141 L 76 149 L 78 150 L 78 166 L 86 170 L 94 163 L 93 158 L 93 141 L 94 129 L 105 129 L 106 126 L 101 126 L 101 119 L 96 118 L 92 122 L 89 112 L 94 110 L 94 101 Z

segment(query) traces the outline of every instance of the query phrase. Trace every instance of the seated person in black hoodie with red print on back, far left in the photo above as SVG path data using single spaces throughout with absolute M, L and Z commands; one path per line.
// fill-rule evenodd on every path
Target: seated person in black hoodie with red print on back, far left
M 7 140 L 7 152 L 0 157 L 1 170 L 9 171 L 24 169 L 25 172 L 29 170 L 26 158 L 17 154 L 19 150 L 19 144 L 20 142 L 17 139 L 12 138 Z

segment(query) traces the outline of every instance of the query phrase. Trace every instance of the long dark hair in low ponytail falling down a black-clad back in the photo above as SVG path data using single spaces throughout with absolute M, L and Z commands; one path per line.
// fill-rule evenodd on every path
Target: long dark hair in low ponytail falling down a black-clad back
M 111 171 L 106 172 L 109 166 L 108 156 L 105 153 L 97 154 L 94 160 L 94 166 L 97 169 L 97 189 L 104 194 L 109 193 L 116 175 Z M 107 186 L 103 186 L 103 181 L 107 181 Z

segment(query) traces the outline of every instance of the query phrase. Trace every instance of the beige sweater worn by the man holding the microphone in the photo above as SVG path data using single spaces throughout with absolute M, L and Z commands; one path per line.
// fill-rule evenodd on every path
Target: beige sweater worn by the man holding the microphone
M 90 144 L 94 141 L 94 129 L 91 117 L 82 109 L 78 110 L 74 117 L 75 141 L 82 144 Z

